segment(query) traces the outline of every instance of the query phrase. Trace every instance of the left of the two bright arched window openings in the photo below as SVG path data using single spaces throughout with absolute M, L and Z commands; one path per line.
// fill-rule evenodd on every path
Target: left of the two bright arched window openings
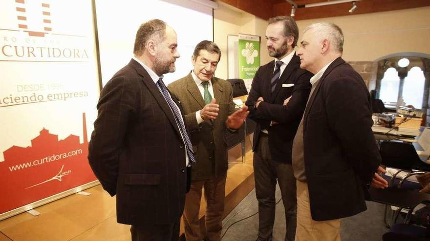
M 384 73 L 384 77 L 381 79 L 379 98 L 383 102 L 397 103 L 399 84 L 400 78 L 397 74 L 397 70 L 394 68 L 388 68 Z

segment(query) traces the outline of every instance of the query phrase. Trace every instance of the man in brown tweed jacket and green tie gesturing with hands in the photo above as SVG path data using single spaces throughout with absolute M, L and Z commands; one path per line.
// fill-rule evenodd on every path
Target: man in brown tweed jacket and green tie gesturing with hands
M 220 58 L 221 50 L 214 42 L 201 41 L 191 57 L 194 70 L 169 85 L 184 108 L 197 160 L 185 198 L 183 221 L 187 241 L 221 241 L 228 169 L 225 132 L 227 128 L 239 128 L 248 115 L 246 106 L 235 111 L 232 85 L 214 77 Z M 198 214 L 203 187 L 207 206 L 201 225 Z

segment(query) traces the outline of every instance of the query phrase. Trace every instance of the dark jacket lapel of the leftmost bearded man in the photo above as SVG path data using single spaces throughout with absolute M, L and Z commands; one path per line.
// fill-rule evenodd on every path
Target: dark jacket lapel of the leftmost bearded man
M 134 59 L 131 59 L 131 61 L 129 62 L 129 65 L 136 70 L 137 74 L 142 76 L 143 83 L 147 86 L 148 90 L 151 92 L 152 96 L 155 98 L 158 105 L 161 107 L 161 110 L 164 111 L 164 113 L 166 114 L 167 118 L 169 119 L 170 123 L 172 124 L 173 128 L 176 130 L 178 135 L 182 136 L 180 130 L 178 129 L 178 124 L 176 123 L 175 117 L 173 116 L 173 112 L 170 109 L 169 104 L 167 103 L 164 96 L 161 94 L 158 87 L 154 84 L 154 81 L 152 81 L 151 76 Z

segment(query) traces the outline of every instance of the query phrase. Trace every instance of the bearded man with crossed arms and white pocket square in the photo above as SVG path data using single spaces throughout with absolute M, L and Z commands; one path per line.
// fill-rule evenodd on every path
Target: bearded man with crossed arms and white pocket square
M 258 241 L 272 240 L 275 187 L 278 181 L 285 208 L 285 241 L 296 232 L 296 180 L 291 148 L 310 91 L 311 74 L 300 69 L 294 47 L 299 29 L 294 19 L 269 19 L 267 49 L 274 61 L 261 66 L 252 82 L 246 105 L 257 122 L 254 133 L 254 176 L 258 200 Z M 291 97 L 287 106 L 283 103 Z

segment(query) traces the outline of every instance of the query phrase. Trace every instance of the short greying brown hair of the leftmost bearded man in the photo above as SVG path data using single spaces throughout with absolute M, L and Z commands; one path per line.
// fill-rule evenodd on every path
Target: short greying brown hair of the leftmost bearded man
M 163 41 L 166 38 L 166 26 L 167 24 L 160 19 L 151 19 L 140 25 L 134 40 L 133 54 L 142 55 L 151 37 L 154 37 L 157 43 Z

